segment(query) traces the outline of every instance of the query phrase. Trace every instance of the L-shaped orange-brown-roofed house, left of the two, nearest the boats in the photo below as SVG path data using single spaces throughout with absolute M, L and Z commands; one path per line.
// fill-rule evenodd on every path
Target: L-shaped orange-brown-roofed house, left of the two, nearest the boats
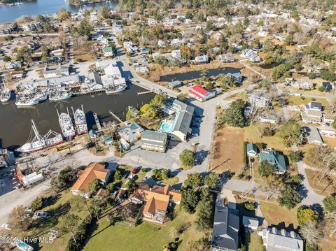
M 98 179 L 102 185 L 106 185 L 110 177 L 111 171 L 106 169 L 105 166 L 98 163 L 90 163 L 71 187 L 71 192 L 73 195 L 80 194 L 89 198 L 91 194 L 87 185 L 89 185 L 90 181 Z

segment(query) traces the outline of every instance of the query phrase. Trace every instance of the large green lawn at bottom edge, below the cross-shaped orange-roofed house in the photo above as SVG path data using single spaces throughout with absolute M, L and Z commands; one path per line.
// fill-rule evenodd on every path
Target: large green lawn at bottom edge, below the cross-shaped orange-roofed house
M 202 238 L 203 233 L 198 232 L 193 225 L 196 215 L 180 212 L 179 206 L 176 206 L 175 210 L 177 216 L 165 226 L 146 221 L 134 228 L 120 223 L 111 226 L 107 217 L 104 217 L 99 220 L 97 229 L 94 230 L 83 250 L 161 251 L 163 245 L 174 240 L 172 235 L 174 227 L 190 222 L 190 227 L 179 236 L 178 248 L 178 250 L 188 250 L 190 242 Z

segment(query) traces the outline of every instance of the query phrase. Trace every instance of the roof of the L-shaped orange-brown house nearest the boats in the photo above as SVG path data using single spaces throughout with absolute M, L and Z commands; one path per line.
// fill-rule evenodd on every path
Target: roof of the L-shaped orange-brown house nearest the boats
M 98 163 L 90 163 L 83 173 L 80 174 L 75 184 L 71 187 L 71 191 L 87 192 L 87 185 L 94 179 L 105 180 L 110 170 Z

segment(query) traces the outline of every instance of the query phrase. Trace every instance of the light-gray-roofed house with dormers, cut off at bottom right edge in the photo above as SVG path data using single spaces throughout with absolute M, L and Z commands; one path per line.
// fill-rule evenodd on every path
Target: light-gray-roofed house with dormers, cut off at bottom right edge
M 303 251 L 304 244 L 302 238 L 294 231 L 278 230 L 275 227 L 262 229 L 258 233 L 262 237 L 263 245 L 266 250 L 291 250 Z

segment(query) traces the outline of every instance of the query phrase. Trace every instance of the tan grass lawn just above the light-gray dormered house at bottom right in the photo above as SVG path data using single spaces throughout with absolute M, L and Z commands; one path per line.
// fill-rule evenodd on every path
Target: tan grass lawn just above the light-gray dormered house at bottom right
M 283 224 L 283 227 L 288 227 L 293 224 L 297 228 L 296 211 L 297 208 L 288 210 L 284 206 L 279 206 L 277 203 L 267 203 L 260 201 L 260 209 L 269 225 Z

